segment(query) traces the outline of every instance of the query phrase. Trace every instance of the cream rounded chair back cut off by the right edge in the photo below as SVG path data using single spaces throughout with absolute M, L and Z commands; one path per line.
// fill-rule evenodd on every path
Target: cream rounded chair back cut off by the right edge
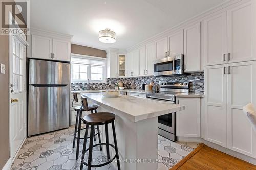
M 243 107 L 243 112 L 246 115 L 246 118 L 251 123 L 254 131 L 256 131 L 256 110 L 252 103 L 249 103 Z

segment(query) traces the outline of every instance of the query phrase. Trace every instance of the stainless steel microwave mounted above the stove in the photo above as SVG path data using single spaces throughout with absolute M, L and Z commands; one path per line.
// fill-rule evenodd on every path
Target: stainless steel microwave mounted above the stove
M 183 74 L 183 54 L 154 61 L 154 76 Z

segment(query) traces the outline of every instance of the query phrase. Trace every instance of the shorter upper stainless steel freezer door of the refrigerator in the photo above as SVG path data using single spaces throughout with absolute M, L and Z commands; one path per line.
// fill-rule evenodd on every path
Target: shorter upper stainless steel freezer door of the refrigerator
M 29 60 L 29 84 L 70 84 L 70 64 Z

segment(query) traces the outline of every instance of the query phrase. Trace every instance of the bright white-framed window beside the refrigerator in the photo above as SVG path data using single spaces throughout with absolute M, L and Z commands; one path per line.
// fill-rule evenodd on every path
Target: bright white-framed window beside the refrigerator
M 92 56 L 71 56 L 71 82 L 105 81 L 105 59 Z

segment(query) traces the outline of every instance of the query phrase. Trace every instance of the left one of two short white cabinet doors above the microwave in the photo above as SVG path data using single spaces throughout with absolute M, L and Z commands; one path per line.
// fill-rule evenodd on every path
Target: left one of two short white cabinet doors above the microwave
M 156 59 L 167 57 L 167 37 L 156 40 Z

